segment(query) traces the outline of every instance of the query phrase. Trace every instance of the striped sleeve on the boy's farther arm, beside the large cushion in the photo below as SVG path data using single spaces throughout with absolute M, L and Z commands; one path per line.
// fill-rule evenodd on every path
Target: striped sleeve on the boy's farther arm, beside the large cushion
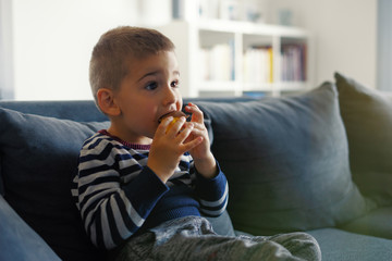
M 195 191 L 199 198 L 200 212 L 207 216 L 221 215 L 228 206 L 229 184 L 226 177 L 221 171 L 219 164 L 219 173 L 213 178 L 205 178 L 196 173 Z

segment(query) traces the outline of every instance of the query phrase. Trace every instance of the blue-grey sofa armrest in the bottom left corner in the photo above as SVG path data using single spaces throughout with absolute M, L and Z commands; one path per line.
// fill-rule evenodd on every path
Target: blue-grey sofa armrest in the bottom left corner
M 0 196 L 0 260 L 60 260 L 2 196 Z

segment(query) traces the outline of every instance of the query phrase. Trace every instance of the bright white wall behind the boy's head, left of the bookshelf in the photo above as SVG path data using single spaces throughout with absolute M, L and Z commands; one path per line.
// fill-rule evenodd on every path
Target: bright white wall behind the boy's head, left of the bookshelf
M 140 14 L 154 17 L 150 2 L 13 0 L 14 98 L 91 99 L 88 63 L 94 45 L 110 28 L 138 25 Z M 166 8 L 159 10 L 170 14 L 167 1 L 160 2 Z

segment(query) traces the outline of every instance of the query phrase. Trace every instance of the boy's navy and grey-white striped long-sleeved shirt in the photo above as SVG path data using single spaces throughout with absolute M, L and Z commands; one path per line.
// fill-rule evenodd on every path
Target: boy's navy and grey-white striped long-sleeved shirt
M 198 174 L 188 153 L 164 184 L 147 166 L 150 146 L 127 144 L 101 130 L 87 139 L 73 179 L 84 227 L 100 248 L 113 249 L 136 232 L 187 215 L 219 216 L 228 204 L 221 172 Z

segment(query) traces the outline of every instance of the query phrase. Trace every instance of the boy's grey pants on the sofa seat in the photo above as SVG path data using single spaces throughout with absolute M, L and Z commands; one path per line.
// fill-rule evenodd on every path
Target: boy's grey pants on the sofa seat
M 270 237 L 228 237 L 217 235 L 200 216 L 186 216 L 130 238 L 118 251 L 124 260 L 321 260 L 315 238 L 305 233 Z

